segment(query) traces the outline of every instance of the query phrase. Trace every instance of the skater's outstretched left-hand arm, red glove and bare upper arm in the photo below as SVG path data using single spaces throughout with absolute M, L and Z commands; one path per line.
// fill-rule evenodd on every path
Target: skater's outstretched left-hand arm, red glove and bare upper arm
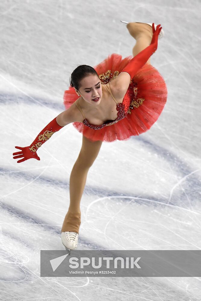
M 42 129 L 42 131 L 37 135 L 36 139 L 29 146 L 15 146 L 15 148 L 18 148 L 21 151 L 13 153 L 13 155 L 15 156 L 13 157 L 13 159 L 23 158 L 21 160 L 18 160 L 17 163 L 23 162 L 30 158 L 40 160 L 39 156 L 36 153 L 39 147 L 41 147 L 43 143 L 49 140 L 49 138 L 52 137 L 55 132 L 58 132 L 65 125 L 75 121 L 77 121 L 76 115 L 74 113 L 74 110 L 70 107 L 68 110 L 60 113 L 50 123 L 48 123 L 48 125 L 46 125 L 44 129 Z

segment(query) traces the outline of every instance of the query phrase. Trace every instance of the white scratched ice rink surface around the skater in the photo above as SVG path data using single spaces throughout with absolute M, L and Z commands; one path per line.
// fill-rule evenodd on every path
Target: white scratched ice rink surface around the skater
M 81 200 L 78 250 L 200 250 L 200 10 L 195 1 L 1 1 L 0 300 L 201 300 L 200 277 L 40 277 L 40 250 L 60 231 L 82 134 L 65 126 L 17 163 L 65 110 L 80 64 L 132 55 L 127 22 L 161 24 L 151 64 L 168 99 L 149 131 L 103 142 Z

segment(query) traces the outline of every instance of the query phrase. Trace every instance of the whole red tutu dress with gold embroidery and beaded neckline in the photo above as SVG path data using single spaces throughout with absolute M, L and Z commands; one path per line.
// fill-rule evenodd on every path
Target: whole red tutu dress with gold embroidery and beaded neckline
M 132 56 L 122 59 L 113 53 L 93 67 L 102 84 L 114 79 L 130 62 Z M 118 118 L 101 126 L 92 125 L 85 119 L 73 126 L 92 141 L 128 140 L 146 132 L 156 122 L 167 101 L 167 87 L 161 74 L 151 64 L 141 67 L 131 79 L 122 103 L 117 104 Z M 64 92 L 64 106 L 68 109 L 77 100 L 74 88 Z

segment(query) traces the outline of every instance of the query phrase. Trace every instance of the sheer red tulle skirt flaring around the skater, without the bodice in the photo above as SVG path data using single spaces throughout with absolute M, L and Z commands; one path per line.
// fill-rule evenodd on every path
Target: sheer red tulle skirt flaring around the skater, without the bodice
M 120 54 L 113 53 L 97 66 L 93 67 L 98 75 L 111 70 L 119 73 L 132 59 L 132 56 L 122 59 Z M 85 137 L 92 141 L 128 140 L 131 136 L 140 135 L 146 132 L 156 122 L 167 101 L 167 87 L 161 74 L 151 64 L 145 64 L 133 77 L 133 82 L 137 83 L 136 98 L 144 98 L 143 103 L 133 108 L 131 114 L 127 114 L 124 119 L 119 120 L 111 126 L 102 129 L 90 129 L 90 127 L 80 122 L 74 122 L 73 126 Z M 69 88 L 64 92 L 64 106 L 68 109 L 77 99 L 74 88 Z M 130 102 L 133 100 L 131 97 Z M 153 109 L 154 108 L 154 109 Z

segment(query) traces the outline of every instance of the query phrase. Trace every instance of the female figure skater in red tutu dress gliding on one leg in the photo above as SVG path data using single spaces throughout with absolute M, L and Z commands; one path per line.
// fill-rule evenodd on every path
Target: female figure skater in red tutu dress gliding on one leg
M 161 114 L 167 88 L 163 77 L 150 64 L 156 51 L 160 24 L 124 22 L 136 40 L 133 57 L 113 53 L 96 67 L 78 66 L 64 92 L 65 111 L 55 117 L 27 147 L 15 148 L 17 163 L 40 160 L 37 150 L 55 132 L 69 123 L 82 133 L 82 147 L 70 176 L 70 205 L 61 228 L 61 241 L 71 252 L 77 248 L 81 223 L 80 200 L 87 173 L 103 141 L 128 140 L 146 132 Z M 161 32 L 161 33 L 160 33 Z M 79 98 L 78 98 L 79 96 Z

